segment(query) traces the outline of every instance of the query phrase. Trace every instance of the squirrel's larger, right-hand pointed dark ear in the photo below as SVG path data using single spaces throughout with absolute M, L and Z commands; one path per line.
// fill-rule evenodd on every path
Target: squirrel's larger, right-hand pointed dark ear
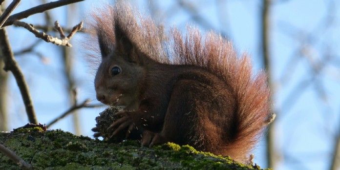
M 127 62 L 140 64 L 140 58 L 137 46 L 133 43 L 127 33 L 120 27 L 119 24 L 115 24 L 115 37 L 116 37 L 116 51 L 124 55 Z

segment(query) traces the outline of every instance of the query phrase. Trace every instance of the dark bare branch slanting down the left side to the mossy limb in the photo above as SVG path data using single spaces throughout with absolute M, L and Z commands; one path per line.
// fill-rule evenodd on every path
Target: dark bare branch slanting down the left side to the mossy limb
M 5 63 L 5 66 L 3 69 L 5 71 L 10 70 L 13 73 L 15 80 L 17 81 L 29 122 L 32 124 L 38 124 L 36 114 L 33 108 L 31 94 L 29 93 L 28 90 L 28 85 L 24 79 L 24 76 L 18 63 L 15 61 L 5 29 L 0 29 L 0 49 L 4 56 L 3 61 Z

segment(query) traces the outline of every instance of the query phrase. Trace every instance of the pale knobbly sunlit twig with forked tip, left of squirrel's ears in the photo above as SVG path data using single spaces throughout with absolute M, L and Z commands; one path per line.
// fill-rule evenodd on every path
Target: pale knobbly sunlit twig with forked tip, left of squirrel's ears
M 34 28 L 33 25 L 28 24 L 26 22 L 22 22 L 22 21 L 14 21 L 14 24 L 17 26 L 21 26 L 26 28 L 28 31 L 30 31 L 31 33 L 33 33 L 37 38 L 43 39 L 45 42 L 47 43 L 54 43 L 56 45 L 62 45 L 62 46 L 69 46 L 71 47 L 72 45 L 69 43 L 69 40 L 71 39 L 71 37 L 80 29 L 82 29 L 83 27 L 83 21 L 80 22 L 79 24 L 77 24 L 76 26 L 73 27 L 72 31 L 69 33 L 69 35 L 67 37 L 65 37 L 63 29 L 60 27 L 58 21 L 56 21 L 55 24 L 55 28 L 59 31 L 61 38 L 56 38 L 56 37 L 52 37 L 51 35 L 47 35 L 44 32 L 40 32 L 39 30 L 37 30 L 36 28 Z M 62 32 L 60 32 L 62 31 Z

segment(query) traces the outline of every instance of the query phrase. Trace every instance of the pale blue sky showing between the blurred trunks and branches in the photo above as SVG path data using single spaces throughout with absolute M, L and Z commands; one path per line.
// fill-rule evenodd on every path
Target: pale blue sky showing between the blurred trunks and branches
M 84 20 L 89 11 L 101 6 L 100 2 L 108 0 L 85 0 L 79 3 L 82 10 L 74 11 L 79 20 Z M 131 0 L 132 3 L 143 11 L 149 13 L 148 2 Z M 272 77 L 274 81 L 274 108 L 282 110 L 277 112 L 276 120 L 276 149 L 285 155 L 281 155 L 278 170 L 289 169 L 328 169 L 329 157 L 332 151 L 332 141 L 339 129 L 340 116 L 340 58 L 339 58 L 339 11 L 334 13 L 333 25 L 324 29 L 323 19 L 329 13 L 330 0 L 277 0 L 272 8 L 271 16 L 271 56 Z M 39 0 L 22 1 L 14 13 L 35 6 Z M 237 51 L 247 51 L 252 56 L 255 65 L 254 72 L 262 68 L 260 57 L 260 27 L 259 14 L 260 0 L 228 0 L 223 6 L 216 6 L 215 0 L 198 0 L 194 2 L 199 9 L 199 15 L 209 21 L 210 29 L 228 33 L 229 39 L 233 41 Z M 177 25 L 184 30 L 185 23 L 197 25 L 192 21 L 188 12 L 182 8 L 174 8 L 176 12 L 166 14 L 166 11 L 174 1 L 164 0 L 159 3 L 159 16 L 156 18 L 165 23 L 166 26 Z M 339 7 L 335 1 L 334 8 Z M 218 13 L 219 9 L 223 9 Z M 65 25 L 65 8 L 51 10 L 53 19 L 59 20 Z M 220 17 L 223 15 L 222 17 Z M 154 16 L 155 17 L 155 16 Z M 43 24 L 42 15 L 34 15 L 24 19 L 33 24 Z M 221 24 L 221 21 L 223 24 Z M 29 46 L 36 38 L 22 28 L 10 26 L 7 28 L 13 51 Z M 202 32 L 207 31 L 201 28 Z M 301 30 L 301 31 L 296 31 Z M 292 36 L 293 35 L 293 36 Z M 336 56 L 336 59 L 327 64 L 317 79 L 324 87 L 327 100 L 320 100 L 316 93 L 316 84 L 308 84 L 306 88 L 294 91 L 301 81 L 312 78 L 311 67 L 308 59 L 297 57 L 294 62 L 291 59 L 298 54 L 301 40 L 313 39 L 311 45 L 305 48 L 311 53 L 312 61 L 320 63 L 324 61 L 325 54 Z M 89 74 L 95 68 L 88 66 L 85 62 L 84 50 L 80 45 L 83 37 L 77 34 L 72 41 L 74 59 L 76 61 L 73 73 L 79 86 L 79 101 L 86 98 L 95 101 L 93 89 L 93 75 Z M 62 75 L 60 48 L 50 43 L 40 43 L 36 48 L 50 62 L 43 64 L 36 56 L 24 55 L 17 57 L 22 67 L 26 80 L 30 85 L 34 106 L 37 111 L 38 120 L 47 123 L 69 106 L 65 95 L 66 82 Z M 306 52 L 306 51 L 304 51 Z M 333 60 L 333 59 L 332 59 Z M 338 63 L 336 63 L 338 62 Z M 287 64 L 290 65 L 287 69 Z M 291 71 L 285 83 L 282 83 L 282 75 Z M 301 93 L 300 93 L 301 92 Z M 299 97 L 288 98 L 291 94 L 301 94 Z M 295 100 L 296 99 L 296 100 Z M 13 77 L 10 80 L 10 91 L 8 101 L 10 104 L 10 128 L 15 128 L 27 123 L 24 107 L 21 102 L 19 90 Z M 292 105 L 286 105 L 291 102 Z M 291 106 L 291 107 L 290 107 Z M 82 109 L 80 111 L 82 133 L 92 136 L 91 128 L 95 125 L 94 118 L 104 108 Z M 70 117 L 55 124 L 52 128 L 61 128 L 73 131 Z M 266 167 L 265 143 L 261 141 L 255 149 L 255 162 Z

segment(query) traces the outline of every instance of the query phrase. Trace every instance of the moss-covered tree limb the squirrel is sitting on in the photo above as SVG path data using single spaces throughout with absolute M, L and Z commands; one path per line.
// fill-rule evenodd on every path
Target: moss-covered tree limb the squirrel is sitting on
M 259 169 L 188 145 L 167 143 L 149 149 L 141 147 L 138 141 L 107 143 L 62 130 L 41 132 L 32 128 L 0 133 L 0 143 L 31 163 L 35 170 Z M 19 168 L 0 154 L 2 169 Z

